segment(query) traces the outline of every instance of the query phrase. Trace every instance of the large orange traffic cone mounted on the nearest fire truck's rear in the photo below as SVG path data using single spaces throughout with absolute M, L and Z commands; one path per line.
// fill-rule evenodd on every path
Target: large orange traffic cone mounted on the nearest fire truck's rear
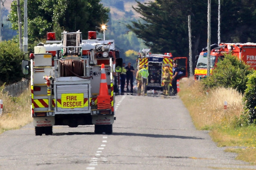
M 98 109 L 111 109 L 111 96 L 108 94 L 108 84 L 104 64 L 101 64 L 99 96 L 97 97 L 97 100 Z

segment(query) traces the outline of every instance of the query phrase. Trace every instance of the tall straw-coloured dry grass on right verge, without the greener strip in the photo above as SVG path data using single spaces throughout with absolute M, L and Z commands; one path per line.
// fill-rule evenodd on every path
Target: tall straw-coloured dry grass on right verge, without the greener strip
M 192 78 L 181 80 L 180 97 L 189 110 L 198 129 L 209 129 L 223 121 L 236 120 L 243 111 L 242 95 L 231 88 L 203 90 L 199 81 Z M 185 89 L 185 90 L 182 90 Z M 224 109 L 227 101 L 227 109 Z

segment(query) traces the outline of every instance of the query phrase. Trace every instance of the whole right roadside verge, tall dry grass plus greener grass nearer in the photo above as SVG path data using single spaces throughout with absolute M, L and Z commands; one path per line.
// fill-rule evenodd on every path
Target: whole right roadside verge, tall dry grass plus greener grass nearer
M 180 81 L 179 96 L 192 117 L 195 127 L 210 130 L 219 147 L 238 153 L 237 159 L 256 164 L 256 126 L 244 127 L 242 95 L 231 88 L 203 90 L 192 78 Z M 227 101 L 227 109 L 224 109 Z M 230 147 L 230 148 L 228 148 Z

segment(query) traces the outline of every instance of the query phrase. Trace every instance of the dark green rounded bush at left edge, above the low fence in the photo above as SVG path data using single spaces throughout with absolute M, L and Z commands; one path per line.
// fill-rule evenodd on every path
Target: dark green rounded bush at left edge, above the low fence
M 21 62 L 23 53 L 19 44 L 12 41 L 0 43 L 0 86 L 12 84 L 22 79 Z

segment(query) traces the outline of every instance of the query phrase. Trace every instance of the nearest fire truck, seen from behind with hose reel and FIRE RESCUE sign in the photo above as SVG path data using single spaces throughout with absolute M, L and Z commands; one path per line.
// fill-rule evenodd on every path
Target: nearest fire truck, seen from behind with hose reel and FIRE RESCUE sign
M 34 47 L 22 72 L 31 73 L 31 116 L 35 135 L 52 135 L 53 125 L 93 125 L 96 134 L 111 134 L 114 123 L 114 78 L 122 59 L 114 40 L 95 31 L 47 33 L 46 44 Z M 104 34 L 105 35 L 105 34 Z M 29 64 L 30 63 L 30 64 Z M 30 70 L 29 70 L 30 67 Z

